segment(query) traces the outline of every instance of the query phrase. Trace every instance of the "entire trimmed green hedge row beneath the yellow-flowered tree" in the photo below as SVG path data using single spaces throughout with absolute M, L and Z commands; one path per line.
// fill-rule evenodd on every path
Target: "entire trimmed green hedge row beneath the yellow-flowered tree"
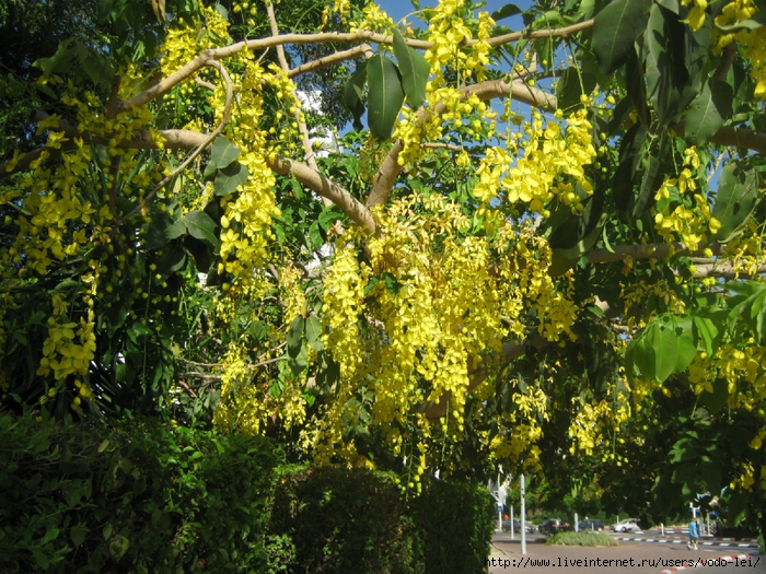
M 263 437 L 0 411 L 0 574 L 485 572 L 488 492 L 285 465 Z

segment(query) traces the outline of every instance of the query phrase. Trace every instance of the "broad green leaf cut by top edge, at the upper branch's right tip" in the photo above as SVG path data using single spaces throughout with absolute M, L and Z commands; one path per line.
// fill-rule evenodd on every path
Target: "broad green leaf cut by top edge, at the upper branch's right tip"
M 614 0 L 595 16 L 592 46 L 605 74 L 627 59 L 634 42 L 647 26 L 651 0 Z

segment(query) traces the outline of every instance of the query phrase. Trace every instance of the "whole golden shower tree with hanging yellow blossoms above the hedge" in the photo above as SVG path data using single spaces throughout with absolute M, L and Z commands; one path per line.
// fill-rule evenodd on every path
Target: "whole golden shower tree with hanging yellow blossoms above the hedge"
M 763 502 L 759 2 L 105 7 L 5 81 L 3 405 Z

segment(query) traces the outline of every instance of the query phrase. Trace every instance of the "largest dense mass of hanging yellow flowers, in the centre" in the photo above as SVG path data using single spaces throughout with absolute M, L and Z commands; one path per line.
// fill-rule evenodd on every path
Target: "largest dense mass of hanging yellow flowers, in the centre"
M 392 449 L 402 448 L 402 437 L 391 423 L 411 421 L 413 405 L 444 409 L 439 422 L 444 441 L 462 435 L 472 373 L 509 337 L 523 336 L 524 309 L 535 308 L 549 340 L 573 337 L 571 284 L 559 293 L 549 278 L 547 243 L 494 215 L 487 212 L 487 234 L 476 236 L 466 233 L 472 220 L 461 206 L 416 194 L 375 212 L 381 230 L 375 237 L 348 230 L 344 239 L 363 243 L 363 257 L 350 243 L 338 248 L 325 281 L 323 341 L 341 365 L 338 389 L 374 386 L 373 421 L 388 433 Z M 514 245 L 520 247 L 509 248 Z M 547 415 L 539 393 L 518 397 L 519 422 L 532 431 L 514 426 L 507 441 L 532 466 L 538 456 L 536 421 Z M 306 438 L 312 448 L 337 446 L 340 422 L 332 420 L 348 421 L 345 400 L 334 399 L 324 425 L 312 426 Z M 442 452 L 432 444 L 432 424 L 418 419 L 418 456 Z

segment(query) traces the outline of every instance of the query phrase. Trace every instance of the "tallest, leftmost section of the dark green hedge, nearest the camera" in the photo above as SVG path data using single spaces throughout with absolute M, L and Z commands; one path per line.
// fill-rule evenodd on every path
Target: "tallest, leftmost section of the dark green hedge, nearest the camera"
M 0 572 L 279 571 L 265 438 L 0 413 Z

